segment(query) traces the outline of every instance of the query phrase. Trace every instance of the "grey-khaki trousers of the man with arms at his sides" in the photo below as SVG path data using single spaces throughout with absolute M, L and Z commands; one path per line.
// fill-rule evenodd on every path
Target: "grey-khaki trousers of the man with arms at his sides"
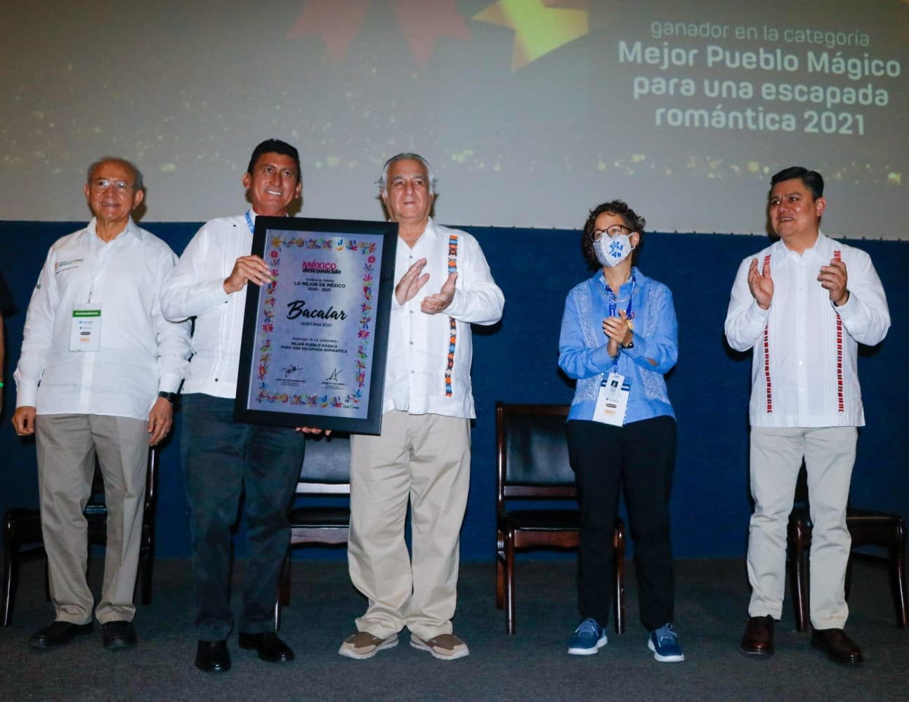
M 132 621 L 133 592 L 148 466 L 148 422 L 96 414 L 44 414 L 35 418 L 41 530 L 56 618 L 87 624 L 95 617 Z M 107 545 L 101 600 L 88 588 L 87 525 L 95 453 L 105 481 Z

